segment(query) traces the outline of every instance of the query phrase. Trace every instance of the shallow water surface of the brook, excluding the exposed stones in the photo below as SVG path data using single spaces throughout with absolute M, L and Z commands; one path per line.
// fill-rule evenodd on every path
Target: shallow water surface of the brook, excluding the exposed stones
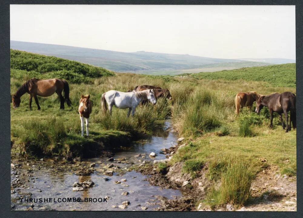
M 132 163 L 141 163 L 142 161 L 148 160 L 160 160 L 165 159 L 164 154 L 159 154 L 160 149 L 169 148 L 174 144 L 177 144 L 176 136 L 168 131 L 170 123 L 166 122 L 163 131 L 159 131 L 148 140 L 140 140 L 133 146 L 119 150 L 114 155 L 115 159 L 125 158 L 126 161 L 117 163 L 117 161 L 109 162 L 108 158 L 92 158 L 85 159 L 81 162 L 82 165 L 90 165 L 95 163 L 94 167 L 97 169 L 90 176 L 77 176 L 73 173 L 69 164 L 66 166 L 58 167 L 58 162 L 52 159 L 46 159 L 41 164 L 40 170 L 38 166 L 30 166 L 33 171 L 32 179 L 25 181 L 24 184 L 29 188 L 15 188 L 16 193 L 12 194 L 12 198 L 25 195 L 25 197 L 31 198 L 69 198 L 69 197 L 80 197 L 82 200 L 85 198 L 103 198 L 108 196 L 107 202 L 71 202 L 71 203 L 33 203 L 34 210 L 142 210 L 141 206 L 146 206 L 147 210 L 152 210 L 159 205 L 154 195 L 161 195 L 168 199 L 176 196 L 181 196 L 180 190 L 175 189 L 161 189 L 157 186 L 149 185 L 148 181 L 144 181 L 146 176 L 135 171 L 125 171 L 121 176 L 114 173 L 113 176 L 106 176 L 103 172 L 98 171 L 104 164 L 112 163 L 122 169 L 130 167 Z M 166 131 L 165 131 L 166 130 Z M 149 157 L 151 152 L 155 152 L 157 156 L 155 158 Z M 134 157 L 137 154 L 141 154 L 141 157 Z M 145 158 L 142 156 L 145 154 Z M 17 162 L 18 160 L 13 160 Z M 54 165 L 54 166 L 52 166 Z M 46 166 L 46 167 L 45 167 Z M 53 168 L 52 168 L 52 167 Z M 58 167 L 58 168 L 57 168 Z M 54 170 L 55 169 L 55 170 Z M 28 173 L 26 169 L 18 168 L 20 174 Z M 114 170 L 115 171 L 115 170 Z M 20 177 L 21 178 L 21 177 Z M 105 181 L 108 178 L 108 181 Z M 15 180 L 16 177 L 12 171 L 11 180 Z M 120 184 L 114 184 L 114 181 L 120 181 L 126 179 L 125 182 Z M 35 180 L 35 182 L 33 182 Z M 95 186 L 85 189 L 84 191 L 72 191 L 72 185 L 74 182 L 84 182 L 85 180 L 92 180 Z M 42 192 L 39 192 L 42 190 Z M 122 192 L 128 192 L 128 195 L 121 195 Z M 31 196 L 26 193 L 32 193 Z M 130 201 L 130 205 L 126 209 L 112 208 L 113 205 L 121 205 L 123 201 Z M 20 203 L 20 200 L 13 201 L 15 207 L 13 210 L 26 210 L 31 203 Z M 139 206 L 140 205 L 140 206 Z

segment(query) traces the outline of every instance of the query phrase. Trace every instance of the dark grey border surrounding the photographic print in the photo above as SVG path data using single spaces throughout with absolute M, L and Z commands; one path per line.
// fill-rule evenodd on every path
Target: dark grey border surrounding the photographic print
M 296 12 L 296 94 L 297 94 L 297 212 L 181 212 L 181 211 L 11 211 L 11 194 L 10 194 L 10 4 L 134 4 L 134 5 L 295 5 Z M 102 0 L 2 0 L 0 2 L 0 109 L 1 109 L 1 134 L 0 145 L 2 152 L 0 153 L 0 167 L 2 179 L 0 180 L 0 194 L 2 201 L 1 217 L 91 217 L 104 216 L 107 218 L 120 217 L 139 218 L 139 217 L 175 217 L 183 218 L 191 216 L 195 217 L 303 217 L 302 209 L 302 158 L 303 157 L 303 2 L 302 1 L 102 1 Z M 298 73 L 300 72 L 300 74 Z

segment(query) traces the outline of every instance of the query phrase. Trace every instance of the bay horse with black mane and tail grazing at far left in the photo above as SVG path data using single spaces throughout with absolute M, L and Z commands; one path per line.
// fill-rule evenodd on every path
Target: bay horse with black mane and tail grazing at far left
M 62 91 L 64 91 L 64 96 L 62 96 Z M 21 103 L 20 97 L 25 93 L 28 93 L 29 108 L 32 109 L 32 98 L 34 97 L 38 110 L 40 110 L 37 95 L 48 97 L 55 92 L 60 97 L 60 109 L 64 109 L 64 102 L 66 102 L 68 106 L 71 106 L 71 101 L 69 99 L 69 86 L 67 81 L 61 79 L 39 80 L 32 78 L 26 81 L 20 88 L 18 88 L 16 93 L 12 95 L 13 107 L 19 107 Z

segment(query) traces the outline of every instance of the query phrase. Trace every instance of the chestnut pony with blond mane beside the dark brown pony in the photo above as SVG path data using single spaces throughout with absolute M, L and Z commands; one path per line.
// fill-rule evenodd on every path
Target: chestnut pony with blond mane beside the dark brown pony
M 235 97 L 236 114 L 238 114 L 243 107 L 248 107 L 249 111 L 251 111 L 252 104 L 261 96 L 263 95 L 255 91 L 239 92 Z

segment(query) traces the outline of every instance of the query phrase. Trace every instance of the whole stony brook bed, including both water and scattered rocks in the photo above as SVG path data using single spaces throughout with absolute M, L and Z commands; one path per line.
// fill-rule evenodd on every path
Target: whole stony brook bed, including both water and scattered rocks
M 68 161 L 12 156 L 12 210 L 155 210 L 163 199 L 182 197 L 178 188 L 152 185 L 148 175 L 131 170 L 167 159 L 161 149 L 177 144 L 169 125 L 105 157 Z M 68 202 L 73 199 L 77 201 Z

